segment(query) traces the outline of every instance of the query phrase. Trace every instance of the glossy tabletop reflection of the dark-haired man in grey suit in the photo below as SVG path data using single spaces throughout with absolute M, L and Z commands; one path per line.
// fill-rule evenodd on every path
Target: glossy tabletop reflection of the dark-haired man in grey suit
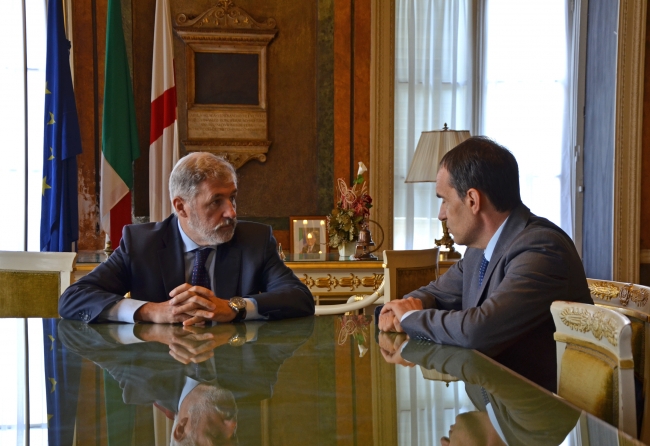
M 390 363 L 417 364 L 461 379 L 478 409 L 456 417 L 449 436 L 440 439 L 442 446 L 558 445 L 578 423 L 580 411 L 472 350 L 407 341 L 395 333 L 378 338 Z

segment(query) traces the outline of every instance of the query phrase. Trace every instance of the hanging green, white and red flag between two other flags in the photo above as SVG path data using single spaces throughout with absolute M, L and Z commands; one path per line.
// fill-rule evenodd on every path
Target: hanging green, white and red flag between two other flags
M 108 0 L 102 164 L 99 208 L 102 228 L 113 249 L 131 224 L 133 160 L 140 156 L 131 72 L 122 31 L 120 0 Z

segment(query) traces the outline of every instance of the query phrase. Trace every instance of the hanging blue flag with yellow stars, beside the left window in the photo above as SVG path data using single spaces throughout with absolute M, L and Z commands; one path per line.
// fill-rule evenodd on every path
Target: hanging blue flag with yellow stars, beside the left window
M 47 2 L 45 132 L 41 202 L 41 251 L 72 250 L 79 239 L 77 155 L 79 119 L 70 74 L 70 42 L 65 36 L 63 2 Z

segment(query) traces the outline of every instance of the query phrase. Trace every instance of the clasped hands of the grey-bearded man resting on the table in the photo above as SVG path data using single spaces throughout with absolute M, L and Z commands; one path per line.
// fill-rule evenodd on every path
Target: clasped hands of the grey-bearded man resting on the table
M 144 304 L 136 312 L 136 320 L 194 325 L 206 320 L 230 322 L 236 316 L 227 300 L 219 299 L 204 287 L 184 283 L 174 288 L 169 297 L 166 302 Z

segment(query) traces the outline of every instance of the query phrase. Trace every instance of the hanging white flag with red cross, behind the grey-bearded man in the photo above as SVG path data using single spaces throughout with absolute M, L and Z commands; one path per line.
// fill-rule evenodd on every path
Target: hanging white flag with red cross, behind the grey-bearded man
M 172 213 L 169 175 L 178 161 L 176 82 L 168 0 L 156 1 L 149 144 L 149 220 L 162 221 Z

